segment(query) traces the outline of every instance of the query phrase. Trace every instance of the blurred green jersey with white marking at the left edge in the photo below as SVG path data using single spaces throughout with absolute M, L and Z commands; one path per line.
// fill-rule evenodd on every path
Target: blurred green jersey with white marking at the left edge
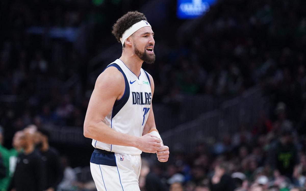
M 3 166 L 6 168 L 5 178 L 0 179 L 0 191 L 6 191 L 15 171 L 18 153 L 16 149 L 8 150 L 0 145 L 0 154 L 2 156 Z

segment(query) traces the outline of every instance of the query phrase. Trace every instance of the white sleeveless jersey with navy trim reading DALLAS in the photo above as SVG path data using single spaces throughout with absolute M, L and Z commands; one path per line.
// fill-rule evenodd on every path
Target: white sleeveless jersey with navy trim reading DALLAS
M 141 137 L 151 108 L 152 92 L 149 76 L 141 68 L 140 76 L 137 78 L 119 59 L 106 68 L 108 67 L 116 67 L 122 73 L 125 79 L 125 92 L 121 99 L 115 101 L 103 122 L 120 133 Z M 128 155 L 140 155 L 142 152 L 135 147 L 106 144 L 94 139 L 92 146 Z

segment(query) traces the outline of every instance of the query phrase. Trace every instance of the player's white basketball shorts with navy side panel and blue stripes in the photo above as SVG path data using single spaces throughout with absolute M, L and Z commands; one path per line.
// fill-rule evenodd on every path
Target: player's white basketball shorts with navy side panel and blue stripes
M 140 191 L 140 155 L 126 155 L 95 148 L 90 159 L 98 191 Z

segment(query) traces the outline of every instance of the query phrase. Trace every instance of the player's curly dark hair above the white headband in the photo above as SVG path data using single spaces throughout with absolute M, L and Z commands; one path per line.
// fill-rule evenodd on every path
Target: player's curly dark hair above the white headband
M 122 37 L 123 33 L 133 24 L 141 20 L 147 21 L 147 18 L 143 13 L 138 11 L 129 11 L 114 24 L 112 34 L 115 36 L 118 42 L 121 42 L 120 38 Z M 123 47 L 125 47 L 125 44 L 123 44 Z

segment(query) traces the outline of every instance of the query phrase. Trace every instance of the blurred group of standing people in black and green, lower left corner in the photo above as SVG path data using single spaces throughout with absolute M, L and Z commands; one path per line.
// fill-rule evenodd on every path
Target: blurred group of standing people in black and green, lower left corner
M 0 129 L 0 191 L 96 190 L 89 167 L 72 168 L 69 159 L 49 145 L 45 129 L 28 125 L 14 134 L 12 149 L 5 148 Z

